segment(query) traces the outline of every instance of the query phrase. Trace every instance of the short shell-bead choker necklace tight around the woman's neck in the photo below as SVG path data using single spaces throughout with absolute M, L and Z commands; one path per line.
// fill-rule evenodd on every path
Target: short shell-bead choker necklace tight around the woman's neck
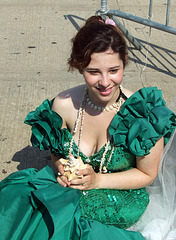
M 91 100 L 90 98 L 86 97 L 86 101 L 87 101 L 87 104 L 88 106 L 90 106 L 94 111 L 98 111 L 98 112 L 109 112 L 113 109 L 116 109 L 116 111 L 118 112 L 120 110 L 120 107 L 122 105 L 122 103 L 124 102 L 124 99 L 122 98 L 122 90 L 121 88 L 119 88 L 120 90 L 120 93 L 119 93 L 119 97 L 117 98 L 116 102 L 113 103 L 112 105 L 110 106 L 107 106 L 107 107 L 100 107 L 100 106 L 96 106 Z

